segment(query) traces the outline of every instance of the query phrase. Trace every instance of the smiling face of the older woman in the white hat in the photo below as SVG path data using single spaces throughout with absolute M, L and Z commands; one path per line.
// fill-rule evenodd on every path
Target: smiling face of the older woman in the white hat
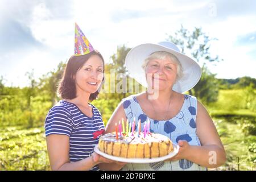
M 148 86 L 153 89 L 171 89 L 177 77 L 177 64 L 166 56 L 164 59 L 152 59 L 146 66 Z

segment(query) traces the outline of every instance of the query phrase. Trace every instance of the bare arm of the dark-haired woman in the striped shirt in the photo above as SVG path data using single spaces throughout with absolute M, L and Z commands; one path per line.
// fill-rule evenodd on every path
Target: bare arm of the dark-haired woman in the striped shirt
M 113 162 L 96 153 L 88 158 L 71 163 L 69 161 L 69 137 L 67 135 L 52 134 L 46 137 L 49 162 L 52 170 L 89 170 L 102 162 Z

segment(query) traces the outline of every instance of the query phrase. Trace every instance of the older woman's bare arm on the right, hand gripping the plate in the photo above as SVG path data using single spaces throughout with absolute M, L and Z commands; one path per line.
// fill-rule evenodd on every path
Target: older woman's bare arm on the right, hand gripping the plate
M 185 140 L 179 141 L 179 154 L 171 160 L 187 159 L 207 168 L 216 168 L 226 161 L 226 154 L 216 127 L 208 111 L 197 101 L 196 131 L 201 146 L 191 146 Z

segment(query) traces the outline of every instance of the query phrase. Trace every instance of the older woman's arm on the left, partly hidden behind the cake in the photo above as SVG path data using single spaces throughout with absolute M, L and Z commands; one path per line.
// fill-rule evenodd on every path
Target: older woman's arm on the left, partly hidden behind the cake
M 106 125 L 106 133 L 112 133 L 115 131 L 115 123 L 121 121 L 123 118 L 124 121 L 126 121 L 126 115 L 125 115 L 125 110 L 123 109 L 123 104 L 122 102 L 117 106 L 115 109 L 114 113 L 110 117 L 107 125 Z M 126 122 L 125 122 L 125 128 L 126 128 Z M 102 170 L 111 170 L 111 171 L 118 171 L 121 169 L 123 166 L 125 166 L 126 163 L 110 163 L 110 164 L 104 164 L 101 163 L 98 166 Z

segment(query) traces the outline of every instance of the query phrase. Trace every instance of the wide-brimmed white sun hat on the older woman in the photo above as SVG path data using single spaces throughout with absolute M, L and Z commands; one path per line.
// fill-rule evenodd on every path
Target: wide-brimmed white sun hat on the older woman
M 156 51 L 170 52 L 177 57 L 183 69 L 183 77 L 176 80 L 172 90 L 183 93 L 192 89 L 201 77 L 200 65 L 180 52 L 179 48 L 171 42 L 160 42 L 158 44 L 141 44 L 131 49 L 125 58 L 125 65 L 129 71 L 129 76 L 134 78 L 139 84 L 147 87 L 145 71 L 142 68 L 144 60 L 147 59 L 151 53 Z

